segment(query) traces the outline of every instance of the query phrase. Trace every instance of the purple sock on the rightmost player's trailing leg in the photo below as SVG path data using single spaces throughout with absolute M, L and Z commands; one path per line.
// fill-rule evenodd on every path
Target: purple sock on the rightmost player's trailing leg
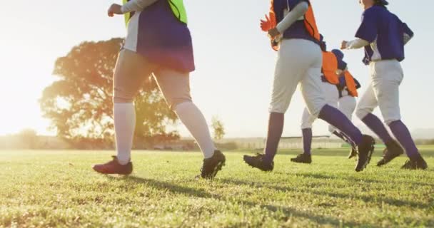
M 410 131 L 401 120 L 393 121 L 389 124 L 389 128 L 392 130 L 393 135 L 395 135 L 400 145 L 403 145 L 405 148 L 408 157 L 419 155 L 419 150 L 416 147 L 413 138 L 411 138 Z

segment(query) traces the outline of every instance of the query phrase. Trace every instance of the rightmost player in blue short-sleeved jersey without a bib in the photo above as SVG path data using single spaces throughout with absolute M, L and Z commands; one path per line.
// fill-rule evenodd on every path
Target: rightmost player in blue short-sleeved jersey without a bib
M 400 156 L 403 153 L 402 145 L 410 158 L 402 168 L 425 170 L 428 165 L 401 121 L 399 107 L 399 86 L 403 81 L 400 61 L 404 60 L 404 46 L 413 37 L 413 31 L 398 16 L 388 11 L 388 1 L 360 0 L 360 5 L 365 11 L 356 38 L 343 41 L 341 46 L 343 49 L 365 48 L 364 63 L 370 68 L 370 85 L 359 100 L 356 115 L 386 145 L 378 166 Z M 400 145 L 390 137 L 380 119 L 372 114 L 377 106 Z

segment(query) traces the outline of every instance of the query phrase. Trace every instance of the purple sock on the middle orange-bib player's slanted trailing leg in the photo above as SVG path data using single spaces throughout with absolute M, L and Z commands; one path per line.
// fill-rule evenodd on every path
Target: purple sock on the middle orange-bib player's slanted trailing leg
M 318 118 L 325 120 L 325 122 L 335 126 L 335 128 L 338 128 L 345 135 L 348 135 L 355 145 L 360 145 L 362 142 L 363 135 L 360 133 L 360 130 L 358 130 L 340 110 L 330 105 L 324 105 Z

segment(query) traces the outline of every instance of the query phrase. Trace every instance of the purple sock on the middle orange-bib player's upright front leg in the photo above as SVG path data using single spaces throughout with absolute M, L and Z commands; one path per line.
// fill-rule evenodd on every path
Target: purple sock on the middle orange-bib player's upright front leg
M 268 133 L 266 140 L 266 148 L 264 153 L 266 154 L 266 160 L 273 161 L 276 155 L 279 141 L 281 140 L 283 133 L 283 122 L 285 114 L 283 113 L 270 113 L 270 119 L 268 120 Z

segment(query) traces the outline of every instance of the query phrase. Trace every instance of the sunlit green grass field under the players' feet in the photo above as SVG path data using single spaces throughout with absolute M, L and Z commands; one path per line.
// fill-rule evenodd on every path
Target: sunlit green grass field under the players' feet
M 107 151 L 0 151 L 0 227 L 434 227 L 429 170 L 353 171 L 347 150 L 313 151 L 312 165 L 281 152 L 264 173 L 226 152 L 214 181 L 195 180 L 198 152 L 133 152 L 129 177 L 91 170 Z M 375 155 L 379 156 L 380 151 Z

